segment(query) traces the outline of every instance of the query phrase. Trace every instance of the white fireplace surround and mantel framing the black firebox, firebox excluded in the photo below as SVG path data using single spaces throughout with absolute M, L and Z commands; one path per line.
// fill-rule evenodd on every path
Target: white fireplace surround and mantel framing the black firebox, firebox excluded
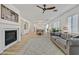
M 17 30 L 17 40 L 5 46 L 5 31 Z M 20 26 L 0 23 L 0 53 L 21 40 Z

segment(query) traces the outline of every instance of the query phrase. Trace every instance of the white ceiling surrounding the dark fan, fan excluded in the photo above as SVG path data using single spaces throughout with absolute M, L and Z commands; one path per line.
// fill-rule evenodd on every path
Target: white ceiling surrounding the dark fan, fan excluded
M 49 10 L 45 11 L 45 13 L 42 13 L 42 10 L 36 7 L 36 4 L 13 4 L 13 6 L 19 9 L 23 18 L 34 23 L 39 21 L 47 23 L 50 19 L 53 19 L 54 17 L 74 7 L 75 4 L 47 4 L 46 7 L 56 6 L 58 11 L 54 12 L 53 10 Z

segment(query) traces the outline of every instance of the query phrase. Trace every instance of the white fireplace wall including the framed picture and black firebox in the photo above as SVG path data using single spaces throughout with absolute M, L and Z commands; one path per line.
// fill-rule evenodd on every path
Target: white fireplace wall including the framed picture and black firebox
M 8 10 L 11 11 L 12 16 L 9 15 Z M 0 4 L 0 11 L 0 53 L 2 53 L 5 49 L 21 41 L 21 30 L 19 24 L 20 13 L 16 8 L 12 5 Z

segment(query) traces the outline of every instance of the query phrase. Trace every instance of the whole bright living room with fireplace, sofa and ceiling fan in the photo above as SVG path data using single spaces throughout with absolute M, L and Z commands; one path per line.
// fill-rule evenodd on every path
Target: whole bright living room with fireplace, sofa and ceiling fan
M 54 55 L 56 53 L 56 55 L 64 53 L 67 55 L 79 54 L 78 9 L 78 4 L 1 4 L 0 53 L 25 53 L 26 55 Z M 32 39 L 31 41 L 30 38 Z M 46 40 L 51 41 L 51 45 L 49 44 L 49 46 L 57 45 L 59 48 L 53 46 L 52 48 L 55 49 L 53 52 L 53 49 L 49 48 L 48 45 L 47 47 L 43 47 L 45 46 L 43 44 L 40 46 L 41 43 L 39 42 L 47 44 L 48 42 Z M 30 48 L 28 48 L 29 50 L 22 47 L 28 45 L 27 41 L 31 42 L 29 43 L 31 45 Z M 18 44 L 18 42 L 20 43 Z M 39 44 L 37 44 L 37 42 Z M 37 46 L 34 47 L 35 45 Z M 16 46 L 16 49 L 13 46 Z M 41 47 L 40 49 L 39 46 Z M 17 47 L 19 48 L 17 49 Z M 25 50 L 25 52 L 21 48 L 26 49 L 27 51 Z M 30 49 L 34 48 L 36 48 L 33 50 L 34 52 L 32 50 L 31 52 Z M 47 48 L 48 52 L 45 48 Z M 16 50 L 19 51 L 20 49 L 22 50 L 21 53 L 16 53 Z M 43 51 L 42 49 L 45 50 Z M 38 51 L 41 51 L 41 53 Z

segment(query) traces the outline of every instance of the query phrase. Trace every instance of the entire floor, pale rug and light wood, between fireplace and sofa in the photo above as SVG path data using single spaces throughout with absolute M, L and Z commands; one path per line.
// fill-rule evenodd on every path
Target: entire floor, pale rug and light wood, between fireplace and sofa
M 27 36 L 25 39 L 27 39 Z M 22 39 L 25 40 L 25 39 Z M 19 46 L 16 45 L 16 48 L 13 46 L 12 48 L 8 48 L 2 54 L 21 54 L 21 55 L 63 55 L 62 51 L 56 47 L 50 40 L 48 35 L 38 36 L 35 34 L 30 34 L 27 43 L 22 43 Z M 18 43 L 19 44 L 19 43 Z M 16 52 L 18 48 L 18 52 Z M 14 49 L 14 50 L 13 50 Z

